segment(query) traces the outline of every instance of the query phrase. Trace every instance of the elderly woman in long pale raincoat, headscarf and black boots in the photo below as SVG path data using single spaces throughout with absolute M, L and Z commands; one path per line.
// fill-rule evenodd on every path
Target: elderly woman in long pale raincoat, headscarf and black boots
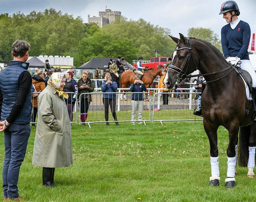
M 52 187 L 56 167 L 73 163 L 71 125 L 63 92 L 65 73 L 53 73 L 38 96 L 38 120 L 32 164 L 43 167 L 43 185 Z

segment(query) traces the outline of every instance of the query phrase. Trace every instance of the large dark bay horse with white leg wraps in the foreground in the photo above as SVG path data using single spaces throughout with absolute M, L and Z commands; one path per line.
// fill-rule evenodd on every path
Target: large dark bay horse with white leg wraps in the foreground
M 237 158 L 238 165 L 247 166 L 247 176 L 253 178 L 256 145 L 256 123 L 252 123 L 254 103 L 247 99 L 245 84 L 239 75 L 242 70 L 234 65 L 230 66 L 221 52 L 206 41 L 186 38 L 182 34 L 180 34 L 180 39 L 171 38 L 177 44 L 173 53 L 173 61 L 163 81 L 166 88 L 175 88 L 182 79 L 197 69 L 207 83 L 202 93 L 201 108 L 204 130 L 210 142 L 211 177 L 209 185 L 219 185 L 217 130 L 221 125 L 228 130 L 229 140 L 226 152 L 228 167 L 225 187 L 231 188 L 236 185 Z M 243 74 L 247 74 L 247 77 L 249 75 L 245 71 Z M 237 141 L 238 150 L 236 150 Z

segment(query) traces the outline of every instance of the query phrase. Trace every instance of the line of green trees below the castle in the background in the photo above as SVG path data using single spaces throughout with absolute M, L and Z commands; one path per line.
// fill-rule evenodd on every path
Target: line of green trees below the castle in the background
M 154 56 L 170 57 L 175 43 L 169 38 L 171 30 L 154 26 L 142 18 L 137 21 L 121 17 L 99 28 L 95 23 L 84 24 L 55 9 L 32 11 L 28 15 L 15 13 L 0 15 L 0 62 L 13 59 L 11 46 L 17 39 L 30 43 L 30 56 L 70 55 L 74 66 L 81 66 L 93 57 L 125 57 L 132 62 L 142 55 L 144 60 Z M 207 40 L 221 50 L 220 40 L 211 29 L 191 28 L 189 37 Z

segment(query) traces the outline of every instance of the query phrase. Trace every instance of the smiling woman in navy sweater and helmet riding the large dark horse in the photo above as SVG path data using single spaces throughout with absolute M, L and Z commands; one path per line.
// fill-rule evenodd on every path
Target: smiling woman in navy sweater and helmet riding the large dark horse
M 241 61 L 241 69 L 250 73 L 254 97 L 256 95 L 256 73 L 249 59 L 248 46 L 250 42 L 250 26 L 237 18 L 239 8 L 234 1 L 226 1 L 221 5 L 223 18 L 228 23 L 221 29 L 221 46 L 226 61 L 237 64 Z M 255 98 L 254 98 L 255 100 Z M 256 117 L 254 116 L 254 121 Z

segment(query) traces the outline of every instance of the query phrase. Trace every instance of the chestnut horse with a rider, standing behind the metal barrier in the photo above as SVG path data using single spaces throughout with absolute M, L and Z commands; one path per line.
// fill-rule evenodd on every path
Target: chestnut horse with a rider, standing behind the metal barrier
M 134 77 L 136 73 L 132 71 L 126 71 L 123 72 L 120 79 L 120 88 L 129 88 L 130 84 L 134 83 Z M 147 88 L 150 87 L 150 85 L 153 83 L 154 78 L 157 75 L 162 75 L 161 69 L 156 70 L 147 70 L 144 72 L 143 77 L 141 77 L 141 80 L 145 84 Z M 127 90 L 121 90 L 121 92 L 127 92 Z M 148 92 L 148 90 L 147 90 Z M 121 94 L 122 95 L 122 94 Z M 126 100 L 126 95 L 124 95 L 124 99 Z M 146 101 L 148 101 L 148 94 L 146 94 Z

